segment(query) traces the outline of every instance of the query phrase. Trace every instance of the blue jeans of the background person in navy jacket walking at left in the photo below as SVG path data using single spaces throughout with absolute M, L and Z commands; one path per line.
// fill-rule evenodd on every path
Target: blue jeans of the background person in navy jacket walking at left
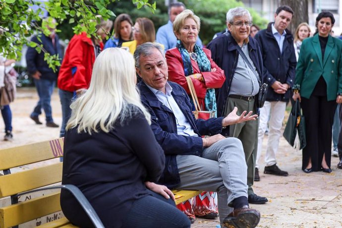
M 51 109 L 51 95 L 54 92 L 56 81 L 51 81 L 47 79 L 34 79 L 34 84 L 37 88 L 37 93 L 39 96 L 39 101 L 37 106 L 34 108 L 31 116 L 38 117 L 42 114 L 42 108 L 45 113 L 46 122 L 53 122 L 52 109 Z

